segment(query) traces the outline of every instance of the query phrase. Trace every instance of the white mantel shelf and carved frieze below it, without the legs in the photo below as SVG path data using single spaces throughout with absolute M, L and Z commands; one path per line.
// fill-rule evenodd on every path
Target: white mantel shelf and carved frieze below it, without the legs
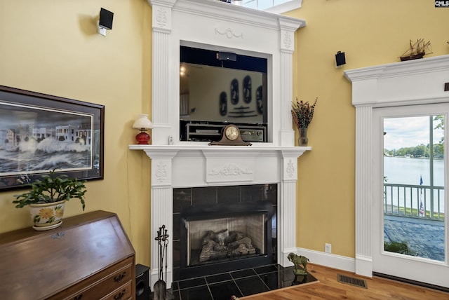
M 310 146 L 130 145 L 152 159 L 152 187 L 296 182 L 297 158 Z M 170 212 L 171 213 L 171 212 Z

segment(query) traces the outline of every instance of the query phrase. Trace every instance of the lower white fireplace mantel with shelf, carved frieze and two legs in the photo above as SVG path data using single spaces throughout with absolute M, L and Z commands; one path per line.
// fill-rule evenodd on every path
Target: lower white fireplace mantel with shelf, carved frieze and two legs
M 173 229 L 173 189 L 180 187 L 278 184 L 278 257 L 282 266 L 291 263 L 287 256 L 296 248 L 297 158 L 310 146 L 203 146 L 203 145 L 130 145 L 130 150 L 145 151 L 151 158 L 152 250 L 157 229 Z M 172 255 L 167 253 L 167 283 L 173 280 Z M 152 251 L 152 282 L 158 280 L 158 257 Z

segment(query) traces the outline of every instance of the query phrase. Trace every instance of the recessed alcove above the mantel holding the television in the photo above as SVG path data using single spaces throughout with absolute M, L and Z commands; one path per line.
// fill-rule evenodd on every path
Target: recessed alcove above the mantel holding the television
M 243 141 L 267 142 L 267 61 L 180 46 L 180 140 L 217 142 L 234 123 Z

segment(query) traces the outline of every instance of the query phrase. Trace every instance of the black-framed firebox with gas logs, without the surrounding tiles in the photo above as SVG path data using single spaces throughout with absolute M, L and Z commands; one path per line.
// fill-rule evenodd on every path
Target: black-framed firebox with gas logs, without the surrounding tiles
M 180 213 L 180 278 L 273 263 L 272 203 L 223 203 Z

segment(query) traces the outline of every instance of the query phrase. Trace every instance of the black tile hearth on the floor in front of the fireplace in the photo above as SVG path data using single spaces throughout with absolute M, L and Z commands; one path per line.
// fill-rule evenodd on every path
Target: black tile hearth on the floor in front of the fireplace
M 239 271 L 220 273 L 206 277 L 173 282 L 172 293 L 177 300 L 229 300 L 237 297 L 269 292 L 274 289 L 290 287 L 316 281 L 314 276 L 298 275 L 295 280 L 293 266 L 279 264 L 247 268 Z

